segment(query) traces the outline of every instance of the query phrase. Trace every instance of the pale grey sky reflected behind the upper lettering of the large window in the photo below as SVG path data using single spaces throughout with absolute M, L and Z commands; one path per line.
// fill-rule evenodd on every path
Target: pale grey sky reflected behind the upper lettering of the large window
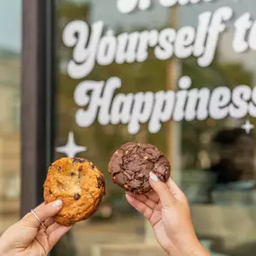
M 163 8 L 158 4 L 158 0 L 151 0 L 154 3 L 154 8 L 146 12 L 137 12 L 130 14 L 121 14 L 116 8 L 116 0 L 93 0 L 92 9 L 93 21 L 102 19 L 111 27 L 121 25 L 125 29 L 134 30 L 137 27 L 161 28 L 168 27 L 168 14 L 170 9 Z M 221 6 L 230 6 L 234 10 L 234 19 L 243 13 L 250 12 L 256 18 L 256 0 L 213 0 L 211 3 L 204 3 L 201 0 L 200 4 L 187 4 L 179 7 L 178 24 L 180 26 L 192 25 L 197 26 L 199 13 L 207 11 L 215 11 Z M 228 23 L 228 26 L 234 23 Z M 256 52 L 248 51 L 243 54 L 236 54 L 232 46 L 233 32 L 225 31 L 223 40 L 218 44 L 220 60 L 238 61 L 254 73 L 254 81 L 256 82 L 255 66 Z

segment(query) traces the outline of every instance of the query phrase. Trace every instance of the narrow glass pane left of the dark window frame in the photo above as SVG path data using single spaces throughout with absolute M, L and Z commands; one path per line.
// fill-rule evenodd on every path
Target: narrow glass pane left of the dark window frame
M 20 213 L 22 1 L 0 3 L 0 234 Z

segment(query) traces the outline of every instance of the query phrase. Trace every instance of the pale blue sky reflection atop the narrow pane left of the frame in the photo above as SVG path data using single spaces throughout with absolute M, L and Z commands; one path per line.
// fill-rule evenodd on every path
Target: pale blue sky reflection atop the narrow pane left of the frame
M 22 49 L 22 0 L 0 2 L 0 49 Z

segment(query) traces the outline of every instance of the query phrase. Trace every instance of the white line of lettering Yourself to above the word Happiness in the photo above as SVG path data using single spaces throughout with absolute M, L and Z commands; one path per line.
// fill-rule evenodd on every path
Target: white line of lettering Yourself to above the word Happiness
M 65 45 L 74 49 L 67 73 L 74 79 L 81 79 L 89 75 L 96 64 L 144 62 L 150 48 L 161 60 L 194 56 L 198 58 L 199 66 L 209 66 L 216 55 L 219 37 L 233 15 L 232 8 L 224 6 L 213 13 L 200 13 L 197 28 L 184 26 L 177 31 L 166 28 L 125 32 L 117 36 L 111 30 L 104 32 L 102 21 L 94 22 L 91 28 L 84 21 L 70 22 L 63 32 Z M 256 24 L 250 13 L 239 17 L 234 28 L 234 51 L 241 53 L 256 49 Z

